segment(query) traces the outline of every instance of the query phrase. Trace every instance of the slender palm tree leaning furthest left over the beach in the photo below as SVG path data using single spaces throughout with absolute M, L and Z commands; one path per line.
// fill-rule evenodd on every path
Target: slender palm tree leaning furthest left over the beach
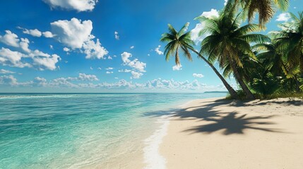
M 230 95 L 233 99 L 237 99 L 237 92 L 232 89 L 230 84 L 226 82 L 224 77 L 220 75 L 218 70 L 213 66 L 212 63 L 210 63 L 206 58 L 204 58 L 201 54 L 198 53 L 193 47 L 194 42 L 191 40 L 191 32 L 186 32 L 187 27 L 189 26 L 189 23 L 186 23 L 182 29 L 177 32 L 172 25 L 168 24 L 168 33 L 165 33 L 162 35 L 162 38 L 160 39 L 161 42 L 167 42 L 168 44 L 165 46 L 165 59 L 168 61 L 170 59 L 170 56 L 174 54 L 175 63 L 177 65 L 180 64 L 179 61 L 179 51 L 182 51 L 184 53 L 184 56 L 186 56 L 189 61 L 192 61 L 191 54 L 189 50 L 193 51 L 195 54 L 197 54 L 200 58 L 203 59 L 203 61 L 206 61 L 206 63 L 210 66 L 210 68 L 213 69 L 216 75 L 220 78 L 220 80 L 225 85 L 228 92 L 230 92 Z

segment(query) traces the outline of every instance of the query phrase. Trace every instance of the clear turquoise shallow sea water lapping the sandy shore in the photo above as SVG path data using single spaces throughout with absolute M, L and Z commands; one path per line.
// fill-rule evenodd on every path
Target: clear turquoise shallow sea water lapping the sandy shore
M 0 94 L 0 168 L 123 167 L 158 127 L 148 113 L 218 96 Z

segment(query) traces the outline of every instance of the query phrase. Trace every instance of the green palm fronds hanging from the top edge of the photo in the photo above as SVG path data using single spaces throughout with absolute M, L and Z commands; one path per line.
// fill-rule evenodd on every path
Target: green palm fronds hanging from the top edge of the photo
M 228 13 L 237 11 L 238 7 L 243 8 L 249 22 L 254 18 L 254 14 L 258 13 L 259 24 L 265 25 L 275 14 L 273 5 L 282 11 L 286 11 L 289 6 L 289 0 L 228 0 L 225 11 Z

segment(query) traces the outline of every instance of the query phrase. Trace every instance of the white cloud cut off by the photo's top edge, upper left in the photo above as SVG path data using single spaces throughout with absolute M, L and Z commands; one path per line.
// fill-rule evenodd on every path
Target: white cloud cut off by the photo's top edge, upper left
M 67 10 L 93 11 L 98 0 L 44 0 L 52 8 L 63 8 Z

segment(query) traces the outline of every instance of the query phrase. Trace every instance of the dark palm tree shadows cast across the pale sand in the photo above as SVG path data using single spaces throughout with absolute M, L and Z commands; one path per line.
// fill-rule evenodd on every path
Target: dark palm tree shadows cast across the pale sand
M 273 102 L 273 101 L 269 101 Z M 278 102 L 273 104 L 294 104 L 290 102 Z M 148 112 L 144 115 L 158 117 L 170 115 L 172 120 L 201 120 L 203 125 L 198 125 L 186 129 L 182 132 L 211 134 L 222 130 L 222 134 L 244 134 L 246 130 L 261 130 L 263 132 L 280 132 L 278 129 L 268 128 L 275 123 L 270 122 L 275 115 L 249 115 L 249 113 L 239 113 L 237 111 L 228 111 L 231 107 L 256 106 L 263 105 L 259 102 L 251 103 L 249 101 L 232 101 L 218 99 L 215 101 L 203 101 L 201 106 L 189 106 L 187 108 L 174 109 L 170 111 Z M 270 104 L 270 103 L 269 103 Z M 295 103 L 297 104 L 297 102 Z M 227 107 L 222 111 L 222 107 Z M 234 110 L 235 108 L 231 108 Z

